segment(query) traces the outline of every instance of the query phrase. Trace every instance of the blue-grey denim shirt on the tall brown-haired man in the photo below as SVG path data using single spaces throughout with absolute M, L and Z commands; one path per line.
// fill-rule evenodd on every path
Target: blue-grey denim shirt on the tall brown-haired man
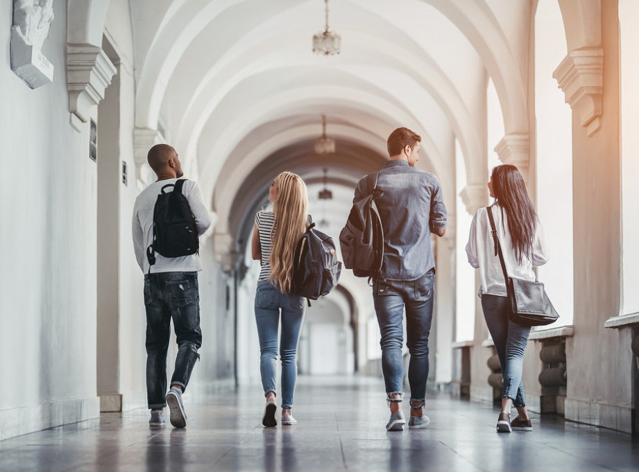
M 373 190 L 375 173 L 361 177 L 353 203 Z M 414 280 L 435 267 L 431 232 L 445 229 L 446 207 L 434 174 L 409 166 L 402 159 L 384 164 L 375 198 L 384 229 L 384 261 L 380 277 Z

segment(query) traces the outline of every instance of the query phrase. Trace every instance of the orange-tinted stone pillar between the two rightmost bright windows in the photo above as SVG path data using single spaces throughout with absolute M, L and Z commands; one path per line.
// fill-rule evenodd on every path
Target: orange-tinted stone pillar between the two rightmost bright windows
M 604 328 L 606 320 L 619 313 L 621 298 L 617 2 L 602 2 L 600 18 L 603 53 L 595 52 L 596 48 L 588 49 L 588 63 L 597 64 L 606 58 L 602 93 L 599 94 L 598 87 L 580 85 L 581 92 L 567 94 L 569 103 L 576 98 L 583 103 L 579 100 L 579 105 L 575 103 L 577 106 L 572 108 L 575 335 L 566 341 L 565 347 L 568 361 L 565 418 L 631 432 L 631 335 L 629 330 Z M 583 53 L 579 45 L 573 49 Z M 572 52 L 570 56 L 570 63 L 583 58 Z M 577 65 L 572 69 L 581 80 L 599 83 L 593 78 L 598 72 L 581 73 Z M 597 96 L 601 97 L 601 112 L 597 111 Z

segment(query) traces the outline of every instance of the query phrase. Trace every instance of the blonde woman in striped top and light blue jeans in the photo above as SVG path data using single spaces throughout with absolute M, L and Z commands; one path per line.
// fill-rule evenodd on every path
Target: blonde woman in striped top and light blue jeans
M 275 365 L 278 357 L 278 325 L 282 317 L 282 425 L 297 423 L 291 414 L 297 377 L 296 352 L 302 329 L 303 297 L 292 294 L 293 252 L 307 227 L 306 184 L 299 175 L 282 172 L 271 182 L 269 202 L 273 211 L 258 211 L 251 253 L 262 270 L 255 292 L 255 321 L 259 335 L 259 373 L 266 396 L 262 424 L 277 426 L 275 418 Z M 281 312 L 281 315 L 280 315 Z

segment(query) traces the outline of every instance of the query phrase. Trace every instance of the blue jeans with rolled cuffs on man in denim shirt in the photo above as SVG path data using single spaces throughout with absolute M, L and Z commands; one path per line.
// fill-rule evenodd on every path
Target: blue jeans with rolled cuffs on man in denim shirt
M 408 382 L 411 400 L 423 401 L 428 378 L 428 335 L 433 319 L 434 270 L 416 280 L 373 282 L 375 313 L 382 340 L 382 373 L 386 394 L 403 394 L 404 307 L 406 308 L 407 347 L 411 354 Z

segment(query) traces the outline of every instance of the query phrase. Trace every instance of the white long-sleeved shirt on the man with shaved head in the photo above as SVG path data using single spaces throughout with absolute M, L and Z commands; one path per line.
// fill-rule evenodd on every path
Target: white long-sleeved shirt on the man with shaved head
M 153 243 L 153 209 L 157 195 L 162 192 L 162 187 L 167 184 L 175 184 L 177 179 L 160 180 L 153 182 L 144 189 L 135 199 L 133 206 L 133 248 L 137 264 L 145 274 L 148 272 L 148 260 L 146 248 Z M 173 191 L 173 187 L 166 189 Z M 197 182 L 186 180 L 182 186 L 182 195 L 185 195 L 191 207 L 191 213 L 195 217 L 198 235 L 202 236 L 211 225 L 209 212 L 204 204 L 202 191 Z M 202 270 L 198 254 L 180 257 L 164 257 L 155 252 L 155 264 L 151 265 L 151 273 L 155 272 L 195 272 Z

